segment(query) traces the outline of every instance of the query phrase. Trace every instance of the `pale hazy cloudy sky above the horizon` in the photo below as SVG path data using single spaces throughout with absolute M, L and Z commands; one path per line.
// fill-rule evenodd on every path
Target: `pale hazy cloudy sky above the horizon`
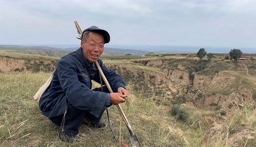
M 80 44 L 74 20 L 110 45 L 256 47 L 255 0 L 0 0 L 0 44 Z

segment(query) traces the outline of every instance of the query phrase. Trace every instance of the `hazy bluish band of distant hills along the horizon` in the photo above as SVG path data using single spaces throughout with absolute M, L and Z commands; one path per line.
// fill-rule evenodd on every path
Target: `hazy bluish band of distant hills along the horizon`
M 72 47 L 68 47 L 72 46 Z M 12 48 L 29 48 L 35 50 L 58 51 L 62 53 L 70 53 L 79 47 L 75 45 L 0 45 L 0 47 Z M 214 47 L 214 46 L 164 46 L 164 45 L 106 45 L 104 53 L 145 55 L 149 52 L 153 53 L 197 53 L 200 48 L 205 48 L 207 53 L 225 53 L 228 54 L 233 48 L 238 48 L 243 53 L 256 53 L 253 47 Z M 0 49 L 1 50 L 1 49 Z

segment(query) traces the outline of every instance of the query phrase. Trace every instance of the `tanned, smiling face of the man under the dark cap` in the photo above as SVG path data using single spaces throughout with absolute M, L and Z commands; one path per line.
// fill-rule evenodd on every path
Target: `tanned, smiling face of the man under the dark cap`
M 96 62 L 104 51 L 104 37 L 101 34 L 90 32 L 86 41 L 82 39 L 81 47 L 84 56 L 90 63 Z

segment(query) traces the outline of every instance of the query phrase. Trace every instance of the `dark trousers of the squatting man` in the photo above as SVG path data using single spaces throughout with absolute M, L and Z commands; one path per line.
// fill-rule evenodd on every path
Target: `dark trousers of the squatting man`
M 95 91 L 100 91 L 100 88 L 93 89 Z M 108 89 L 106 86 L 103 86 L 103 91 L 108 92 Z M 70 102 L 67 102 L 67 112 L 66 115 L 62 114 L 59 116 L 51 117 L 49 118 L 54 124 L 57 126 L 61 126 L 64 128 L 65 133 L 69 135 L 76 135 L 78 133 L 78 128 L 82 123 L 83 118 L 86 118 L 88 121 L 90 121 L 93 124 L 96 124 L 97 122 L 101 121 L 102 115 L 105 111 L 102 110 L 99 117 L 95 117 L 94 115 L 90 114 L 88 111 L 80 110 L 75 108 Z

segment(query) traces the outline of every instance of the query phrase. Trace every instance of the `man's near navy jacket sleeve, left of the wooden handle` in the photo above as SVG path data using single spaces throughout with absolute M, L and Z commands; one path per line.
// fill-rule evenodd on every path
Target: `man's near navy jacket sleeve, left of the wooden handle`
M 110 94 L 93 91 L 86 84 L 80 82 L 75 60 L 68 56 L 58 63 L 57 70 L 58 80 L 68 101 L 77 109 L 87 110 L 92 115 L 99 117 L 106 105 L 110 104 Z M 82 78 L 85 82 L 91 82 L 86 75 L 82 75 Z

